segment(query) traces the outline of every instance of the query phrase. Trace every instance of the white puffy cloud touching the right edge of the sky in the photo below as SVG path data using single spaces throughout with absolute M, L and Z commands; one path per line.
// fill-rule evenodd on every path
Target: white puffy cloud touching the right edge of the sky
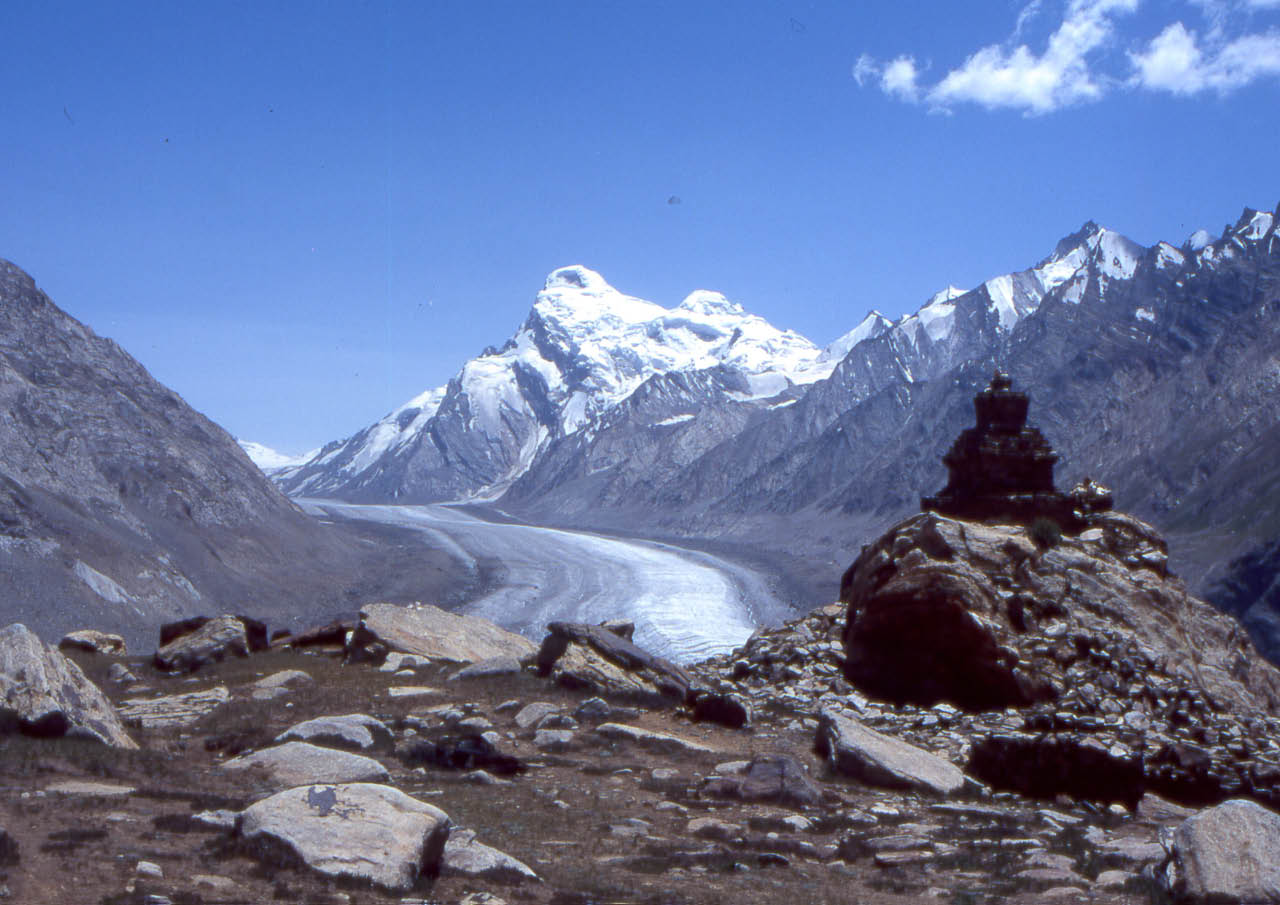
M 1196 32 L 1175 22 L 1142 52 L 1130 54 L 1133 84 L 1149 91 L 1228 93 L 1268 76 L 1280 76 L 1280 31 L 1244 35 L 1208 54 Z

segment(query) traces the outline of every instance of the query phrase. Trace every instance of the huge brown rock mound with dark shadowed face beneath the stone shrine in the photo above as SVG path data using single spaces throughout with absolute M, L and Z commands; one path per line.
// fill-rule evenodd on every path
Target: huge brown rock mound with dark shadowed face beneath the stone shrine
M 972 772 L 993 786 L 1280 803 L 1280 671 L 1169 573 L 1149 525 L 918 515 L 863 549 L 841 599 L 845 676 L 868 696 L 1020 712 L 1012 735 L 973 741 Z

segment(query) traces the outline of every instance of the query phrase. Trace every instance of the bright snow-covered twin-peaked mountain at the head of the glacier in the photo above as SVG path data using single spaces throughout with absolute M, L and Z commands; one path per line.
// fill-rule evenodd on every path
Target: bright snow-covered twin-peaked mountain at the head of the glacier
M 718 292 L 667 308 L 588 268 L 559 268 L 502 348 L 279 480 L 293 494 L 358 501 L 493 494 L 550 439 L 584 429 L 654 376 L 723 369 L 737 398 L 756 399 L 826 378 L 836 361 Z

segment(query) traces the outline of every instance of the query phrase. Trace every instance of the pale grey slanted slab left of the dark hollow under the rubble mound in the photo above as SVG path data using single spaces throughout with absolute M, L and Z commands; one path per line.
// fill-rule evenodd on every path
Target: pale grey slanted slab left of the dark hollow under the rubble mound
M 955 764 L 833 710 L 818 721 L 817 749 L 837 773 L 872 786 L 954 795 L 965 783 Z

